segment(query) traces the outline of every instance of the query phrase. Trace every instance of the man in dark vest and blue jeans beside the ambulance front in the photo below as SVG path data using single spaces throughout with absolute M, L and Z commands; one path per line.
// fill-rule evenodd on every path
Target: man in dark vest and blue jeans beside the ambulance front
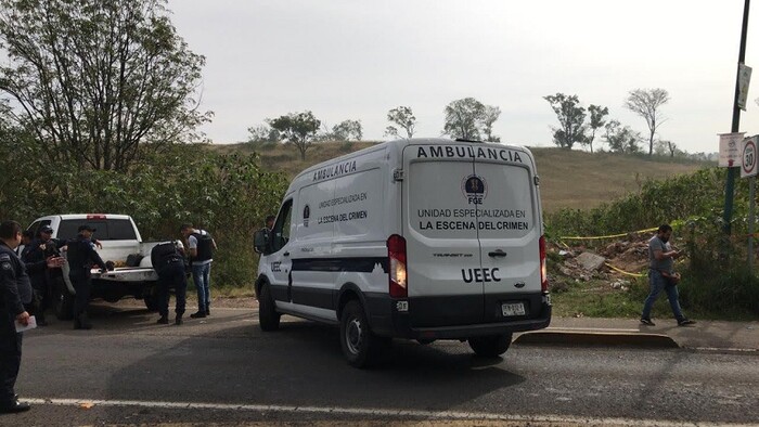
M 188 241 L 192 281 L 197 289 L 197 312 L 190 318 L 202 319 L 210 315 L 210 263 L 216 242 L 210 233 L 195 230 L 190 223 L 182 224 L 179 231 Z

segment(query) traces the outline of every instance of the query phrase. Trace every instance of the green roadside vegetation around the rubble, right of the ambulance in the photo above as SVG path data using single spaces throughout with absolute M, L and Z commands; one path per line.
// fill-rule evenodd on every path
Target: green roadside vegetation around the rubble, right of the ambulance
M 603 236 L 649 229 L 660 223 L 674 228 L 673 244 L 686 254 L 677 268 L 681 303 L 693 316 L 757 319 L 759 281 L 747 269 L 748 183 L 737 182 L 731 237 L 723 233 L 725 169 L 708 168 L 691 174 L 645 182 L 633 192 L 599 207 L 558 209 L 545 217 L 549 240 L 561 236 Z M 653 233 L 652 233 L 653 235 Z M 594 250 L 608 244 L 589 243 Z M 552 255 L 554 273 L 557 255 Z M 633 273 L 645 273 L 633 272 Z M 596 287 L 595 292 L 593 288 Z M 554 294 L 563 315 L 636 316 L 647 293 L 645 277 L 632 280 L 629 290 L 610 292 L 597 282 L 576 282 Z M 670 318 L 666 297 L 657 301 L 655 315 Z

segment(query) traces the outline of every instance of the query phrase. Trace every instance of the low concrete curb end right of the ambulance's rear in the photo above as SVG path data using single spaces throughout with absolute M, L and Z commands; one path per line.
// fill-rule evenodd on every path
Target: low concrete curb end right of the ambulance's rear
M 516 337 L 513 344 L 528 346 L 680 348 L 680 345 L 667 335 L 633 333 L 529 332 Z

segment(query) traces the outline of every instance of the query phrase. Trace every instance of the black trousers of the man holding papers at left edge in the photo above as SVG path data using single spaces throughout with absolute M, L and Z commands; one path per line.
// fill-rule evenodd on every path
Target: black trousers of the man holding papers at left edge
M 16 332 L 15 316 L 0 307 L 0 406 L 13 402 L 14 387 L 21 367 L 21 341 L 24 334 Z

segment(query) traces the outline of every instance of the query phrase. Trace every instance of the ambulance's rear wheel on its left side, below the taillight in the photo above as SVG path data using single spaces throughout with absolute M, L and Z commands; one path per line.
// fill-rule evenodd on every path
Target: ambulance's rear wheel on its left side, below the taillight
M 353 367 L 374 365 L 390 340 L 378 337 L 369 328 L 361 302 L 349 301 L 340 316 L 340 347 L 348 364 Z

